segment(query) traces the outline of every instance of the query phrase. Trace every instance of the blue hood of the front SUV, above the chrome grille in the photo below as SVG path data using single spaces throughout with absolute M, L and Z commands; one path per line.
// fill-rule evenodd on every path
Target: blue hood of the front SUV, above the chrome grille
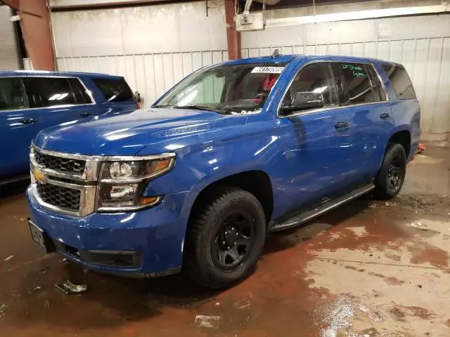
M 132 155 L 143 147 L 159 143 L 155 151 L 167 152 L 164 145 L 174 138 L 240 124 L 245 124 L 245 118 L 217 112 L 168 108 L 135 110 L 46 128 L 34 138 L 34 144 L 58 152 Z

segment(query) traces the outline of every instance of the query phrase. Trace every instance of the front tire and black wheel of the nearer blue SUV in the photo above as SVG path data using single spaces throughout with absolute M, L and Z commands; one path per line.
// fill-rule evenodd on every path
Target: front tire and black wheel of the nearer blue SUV
M 226 188 L 188 225 L 184 271 L 209 288 L 226 288 L 250 275 L 262 252 L 266 217 L 258 199 Z

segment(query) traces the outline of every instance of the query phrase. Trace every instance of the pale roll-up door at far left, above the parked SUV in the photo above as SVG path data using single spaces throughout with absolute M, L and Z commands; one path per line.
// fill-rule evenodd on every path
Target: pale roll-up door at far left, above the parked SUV
M 11 8 L 0 6 L 0 70 L 20 69 Z

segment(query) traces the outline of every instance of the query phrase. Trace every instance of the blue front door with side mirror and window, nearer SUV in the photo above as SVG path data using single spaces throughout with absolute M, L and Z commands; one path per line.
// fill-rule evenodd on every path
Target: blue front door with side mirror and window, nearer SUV
M 327 201 L 352 174 L 352 118 L 340 107 L 328 62 L 302 67 L 278 112 L 283 158 L 278 164 L 282 213 Z

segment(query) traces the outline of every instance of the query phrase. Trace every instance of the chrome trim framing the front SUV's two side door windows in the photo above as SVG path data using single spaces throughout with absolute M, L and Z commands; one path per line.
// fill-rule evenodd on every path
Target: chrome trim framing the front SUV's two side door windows
M 352 104 L 352 105 L 334 105 L 333 107 L 325 107 L 325 108 L 321 108 L 321 109 L 314 109 L 314 110 L 306 110 L 306 111 L 304 111 L 304 112 L 297 112 L 297 113 L 295 113 L 295 114 L 289 114 L 288 116 L 280 115 L 280 112 L 281 112 L 281 105 L 283 104 L 283 100 L 284 100 L 284 98 L 285 98 L 285 95 L 288 93 L 288 90 L 289 90 L 290 86 L 293 84 L 293 81 L 294 81 L 295 77 L 297 76 L 297 74 L 298 74 L 304 67 L 306 67 L 307 65 L 311 65 L 311 64 L 313 64 L 313 63 L 323 63 L 323 62 L 328 62 L 328 63 L 332 63 L 332 62 L 335 62 L 335 63 L 361 63 L 361 64 L 363 64 L 363 65 L 371 65 L 371 66 L 373 67 L 373 71 L 375 72 L 375 74 L 377 74 L 378 79 L 380 80 L 380 84 L 381 84 L 381 86 L 383 87 L 383 91 L 385 91 L 385 97 L 386 97 L 386 100 L 382 100 L 382 101 L 380 101 L 380 102 L 359 103 L 359 104 Z M 332 68 L 331 70 L 333 71 L 333 68 Z M 387 102 L 389 102 L 389 95 L 388 95 L 388 93 L 387 93 L 386 86 L 385 86 L 383 80 L 381 79 L 380 74 L 378 74 L 377 70 L 375 69 L 375 67 L 374 67 L 374 65 L 373 65 L 373 62 L 358 61 L 358 60 L 356 60 L 356 61 L 354 61 L 354 62 L 340 61 L 340 60 L 311 60 L 311 61 L 305 63 L 304 65 L 302 65 L 302 67 L 301 67 L 299 70 L 297 70 L 297 72 L 295 72 L 295 75 L 293 76 L 293 78 L 290 79 L 289 84 L 288 84 L 288 86 L 284 89 L 284 92 L 283 92 L 283 95 L 282 95 L 282 97 L 281 97 L 281 100 L 280 100 L 280 102 L 278 103 L 278 107 L 277 107 L 277 109 L 276 109 L 276 117 L 278 117 L 278 118 L 288 118 L 288 117 L 295 117 L 295 116 L 298 116 L 298 115 L 300 115 L 300 114 L 310 114 L 310 113 L 314 113 L 314 112 L 321 112 L 321 111 L 326 111 L 326 110 L 331 110 L 331 109 L 346 108 L 346 107 L 359 107 L 359 106 L 362 106 L 362 105 L 380 104 L 380 103 L 387 103 Z

